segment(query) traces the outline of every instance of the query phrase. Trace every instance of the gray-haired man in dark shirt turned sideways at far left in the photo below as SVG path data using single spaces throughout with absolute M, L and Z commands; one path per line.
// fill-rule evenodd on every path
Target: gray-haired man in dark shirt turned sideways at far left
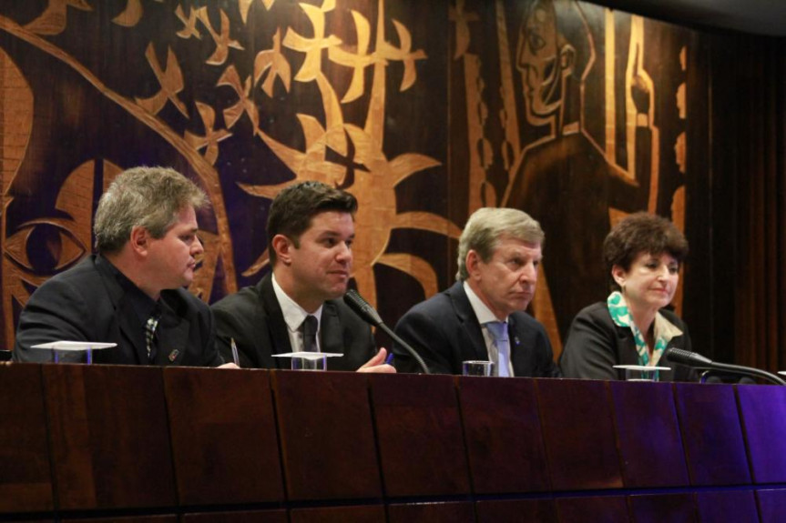
M 183 288 L 204 252 L 196 211 L 207 205 L 173 169 L 118 175 L 98 202 L 98 254 L 33 293 L 19 317 L 15 361 L 51 361 L 50 351 L 31 347 L 67 340 L 117 344 L 97 351 L 96 363 L 221 366 L 210 309 Z

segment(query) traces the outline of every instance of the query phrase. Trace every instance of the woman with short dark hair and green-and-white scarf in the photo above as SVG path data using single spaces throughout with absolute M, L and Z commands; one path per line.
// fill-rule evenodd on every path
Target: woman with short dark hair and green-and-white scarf
M 615 226 L 603 244 L 611 294 L 574 318 L 560 367 L 565 377 L 623 379 L 615 365 L 670 367 L 663 381 L 696 378 L 661 358 L 669 347 L 690 350 L 688 327 L 669 306 L 688 241 L 669 220 L 636 213 Z

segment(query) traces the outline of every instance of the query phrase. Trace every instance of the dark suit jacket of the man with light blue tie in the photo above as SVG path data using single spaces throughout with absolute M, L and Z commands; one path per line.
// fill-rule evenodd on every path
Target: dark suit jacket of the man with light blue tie
M 475 310 L 464 292 L 453 287 L 412 307 L 399 320 L 396 334 L 413 347 L 434 374 L 461 374 L 462 362 L 487 360 L 488 350 Z M 511 360 L 517 377 L 558 377 L 546 329 L 526 312 L 508 317 Z M 399 372 L 421 372 L 413 357 L 393 344 L 393 363 Z

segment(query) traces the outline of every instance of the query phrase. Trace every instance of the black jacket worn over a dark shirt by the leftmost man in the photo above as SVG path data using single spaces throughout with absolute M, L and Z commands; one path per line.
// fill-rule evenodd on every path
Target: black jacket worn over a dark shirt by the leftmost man
M 185 289 L 161 292 L 155 365 L 217 367 L 223 360 L 207 305 Z M 15 361 L 52 361 L 52 351 L 31 349 L 57 340 L 117 343 L 93 352 L 94 363 L 148 365 L 144 326 L 113 267 L 102 256 L 88 256 L 38 287 L 16 330 Z M 82 355 L 68 355 L 77 360 Z

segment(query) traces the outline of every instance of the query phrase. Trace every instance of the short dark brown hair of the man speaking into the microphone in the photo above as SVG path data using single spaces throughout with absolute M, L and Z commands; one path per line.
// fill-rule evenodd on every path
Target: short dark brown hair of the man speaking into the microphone
M 354 196 L 322 182 L 300 182 L 282 189 L 273 199 L 268 213 L 268 252 L 271 256 L 271 267 L 276 264 L 276 252 L 272 248 L 274 236 L 287 236 L 297 247 L 301 234 L 311 226 L 313 216 L 327 211 L 350 213 L 354 216 L 357 210 L 358 201 Z

